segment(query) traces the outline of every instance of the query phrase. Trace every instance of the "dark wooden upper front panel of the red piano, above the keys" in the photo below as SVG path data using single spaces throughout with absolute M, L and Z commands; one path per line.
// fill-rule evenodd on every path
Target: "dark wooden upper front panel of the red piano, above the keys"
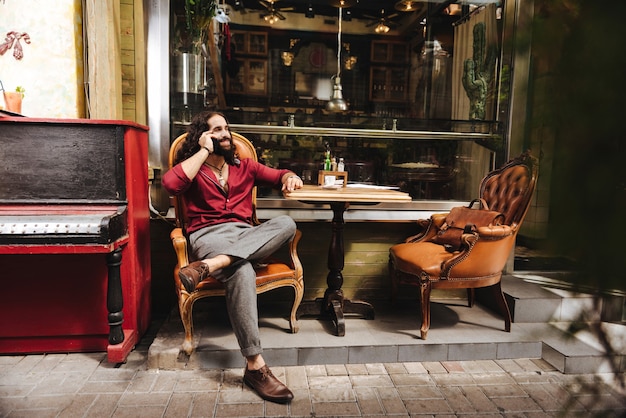
M 20 120 L 0 118 L 0 205 L 126 204 L 124 126 Z

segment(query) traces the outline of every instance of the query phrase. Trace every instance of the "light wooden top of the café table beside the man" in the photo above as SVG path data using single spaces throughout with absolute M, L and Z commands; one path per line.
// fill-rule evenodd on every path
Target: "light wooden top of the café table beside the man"
M 304 187 L 284 193 L 285 199 L 310 202 L 410 202 L 408 193 L 375 187 Z

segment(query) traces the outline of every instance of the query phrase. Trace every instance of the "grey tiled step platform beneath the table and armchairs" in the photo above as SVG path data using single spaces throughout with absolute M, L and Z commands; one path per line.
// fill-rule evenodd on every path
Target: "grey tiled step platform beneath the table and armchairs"
M 504 279 L 503 287 L 515 304 L 516 321 L 510 333 L 504 332 L 500 314 L 481 304 L 469 308 L 465 300 L 433 299 L 426 340 L 419 338 L 420 308 L 416 300 L 403 300 L 394 306 L 375 301 L 374 320 L 347 316 L 346 335 L 337 337 L 330 321 L 315 317 L 301 318 L 300 331 L 289 333 L 288 304 L 260 295 L 264 357 L 276 366 L 543 358 L 564 373 L 593 373 L 610 367 L 604 350 L 593 339 L 573 338 L 564 325 L 567 322 L 552 320 L 571 315 L 563 308 L 569 303 L 563 299 L 570 298 L 512 276 Z M 149 348 L 149 367 L 211 369 L 243 365 L 223 299 L 198 301 L 194 327 L 196 350 L 187 357 L 179 352 L 184 331 L 177 309 L 173 310 Z M 626 334 L 623 328 L 613 331 Z M 620 350 L 613 360 L 623 359 L 626 344 Z

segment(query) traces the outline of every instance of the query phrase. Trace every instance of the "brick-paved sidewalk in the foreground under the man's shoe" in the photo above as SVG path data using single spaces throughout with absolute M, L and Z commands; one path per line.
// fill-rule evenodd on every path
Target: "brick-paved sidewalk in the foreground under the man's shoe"
M 295 393 L 262 401 L 242 368 L 149 370 L 147 348 L 0 356 L 0 417 L 626 416 L 612 376 L 564 375 L 543 360 L 273 367 Z M 560 415 L 568 408 L 565 415 Z

